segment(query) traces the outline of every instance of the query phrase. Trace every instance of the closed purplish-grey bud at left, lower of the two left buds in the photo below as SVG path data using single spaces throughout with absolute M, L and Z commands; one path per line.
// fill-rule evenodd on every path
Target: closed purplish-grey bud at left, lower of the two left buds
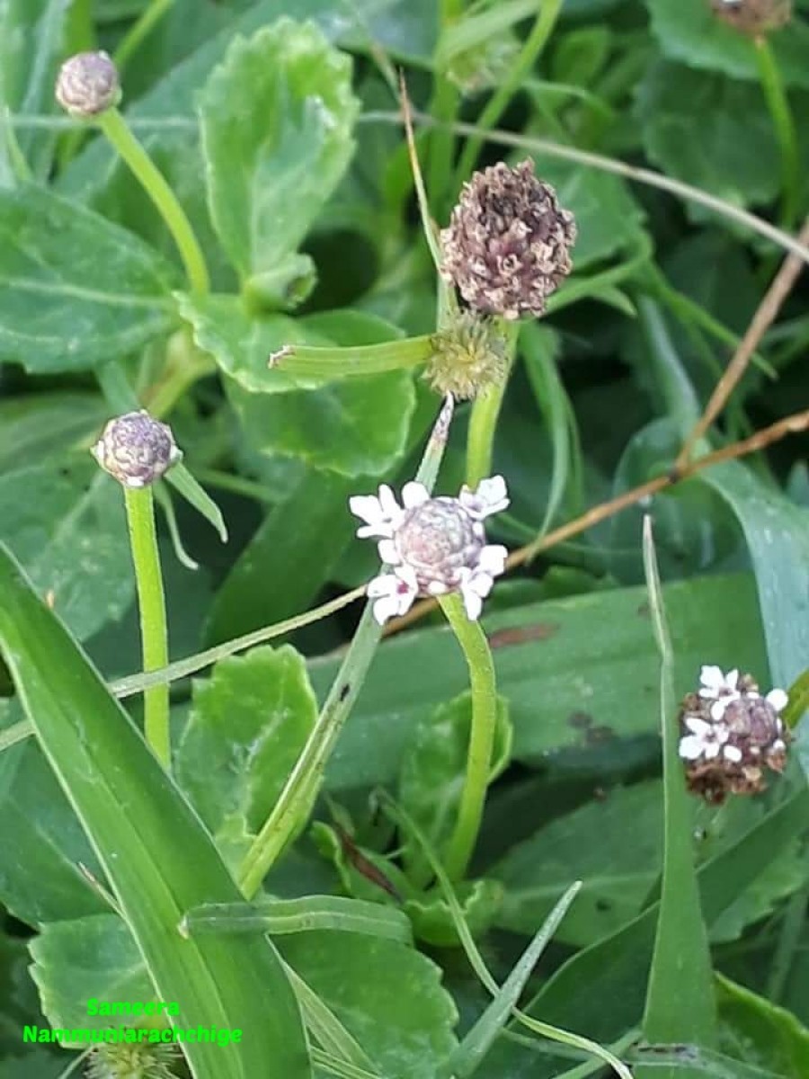
M 124 487 L 148 487 L 182 456 L 172 428 L 146 411 L 110 420 L 92 453 Z

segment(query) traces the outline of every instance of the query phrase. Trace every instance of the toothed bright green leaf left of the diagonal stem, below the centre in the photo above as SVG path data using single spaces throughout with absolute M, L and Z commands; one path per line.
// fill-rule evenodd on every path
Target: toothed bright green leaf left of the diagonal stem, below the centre
M 305 664 L 290 645 L 231 656 L 194 681 L 177 779 L 229 865 L 270 816 L 316 718 Z

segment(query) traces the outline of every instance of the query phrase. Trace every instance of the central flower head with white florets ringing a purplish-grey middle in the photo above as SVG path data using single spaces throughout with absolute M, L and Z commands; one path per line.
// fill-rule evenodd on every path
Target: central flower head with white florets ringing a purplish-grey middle
M 464 486 L 457 498 L 430 497 L 421 483 L 406 483 L 400 506 L 386 484 L 379 495 L 355 495 L 353 514 L 366 523 L 361 537 L 376 536 L 389 568 L 368 585 L 379 623 L 410 610 L 416 596 L 458 591 L 469 618 L 480 615 L 494 578 L 506 568 L 506 548 L 486 544 L 483 520 L 508 505 L 502 476 Z

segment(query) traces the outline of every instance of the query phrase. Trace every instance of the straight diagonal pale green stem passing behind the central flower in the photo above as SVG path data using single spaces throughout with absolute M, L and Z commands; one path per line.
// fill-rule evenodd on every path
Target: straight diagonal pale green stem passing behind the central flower
M 435 484 L 451 419 L 452 398 L 448 398 L 436 420 L 415 477 L 427 490 Z M 326 762 L 362 686 L 381 637 L 382 626 L 375 622 L 372 604 L 368 603 L 306 745 L 239 866 L 237 883 L 247 899 L 252 899 L 272 864 L 308 817 Z

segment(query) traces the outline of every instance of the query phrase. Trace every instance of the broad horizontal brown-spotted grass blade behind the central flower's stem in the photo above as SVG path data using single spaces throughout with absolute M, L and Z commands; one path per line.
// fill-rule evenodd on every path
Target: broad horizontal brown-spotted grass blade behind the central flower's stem
M 751 575 L 676 582 L 663 587 L 663 596 L 677 642 L 680 695 L 694 688 L 709 657 L 728 670 L 766 668 Z M 657 730 L 655 647 L 643 588 L 525 604 L 484 615 L 483 625 L 497 689 L 509 702 L 517 761 L 537 765 L 561 750 L 592 760 L 611 745 L 622 753 L 620 739 Z M 746 627 L 743 638 L 739 625 Z M 337 668 L 333 657 L 311 660 L 319 698 Z M 330 789 L 394 780 L 421 716 L 462 693 L 467 681 L 454 638 L 443 627 L 383 643 L 329 762 Z

